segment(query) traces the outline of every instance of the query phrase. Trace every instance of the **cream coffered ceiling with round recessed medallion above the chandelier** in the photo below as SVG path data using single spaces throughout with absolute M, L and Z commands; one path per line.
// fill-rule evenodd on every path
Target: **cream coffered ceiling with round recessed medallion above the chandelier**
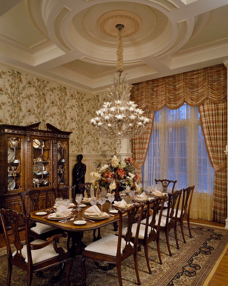
M 1 62 L 97 94 L 228 60 L 227 0 L 0 0 Z

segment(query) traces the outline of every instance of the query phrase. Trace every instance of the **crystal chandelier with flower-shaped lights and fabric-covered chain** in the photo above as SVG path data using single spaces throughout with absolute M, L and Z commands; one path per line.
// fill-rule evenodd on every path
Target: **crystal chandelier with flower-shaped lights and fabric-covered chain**
M 150 119 L 142 116 L 144 111 L 137 108 L 134 101 L 128 101 L 130 88 L 127 84 L 127 74 L 121 78 L 121 73 L 124 71 L 122 42 L 124 25 L 118 24 L 116 28 L 118 30 L 116 52 L 118 79 L 112 74 L 113 91 L 108 88 L 110 101 L 104 102 L 103 108 L 96 111 L 97 116 L 90 119 L 90 122 L 102 138 L 135 138 L 147 127 Z

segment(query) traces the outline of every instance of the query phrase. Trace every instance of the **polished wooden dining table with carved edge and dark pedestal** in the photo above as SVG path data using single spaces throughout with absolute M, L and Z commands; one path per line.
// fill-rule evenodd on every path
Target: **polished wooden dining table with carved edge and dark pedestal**
M 75 206 L 77 205 L 77 203 L 75 203 Z M 108 218 L 105 219 L 99 219 L 99 220 L 94 220 L 91 218 L 91 220 L 94 220 L 94 222 L 91 222 L 89 220 L 86 220 L 85 224 L 74 224 L 74 221 L 77 220 L 82 220 L 82 218 L 84 217 L 84 211 L 86 209 L 88 209 L 89 207 L 91 207 L 90 204 L 87 204 L 86 207 L 81 207 L 80 211 L 73 211 L 73 215 L 77 216 L 75 217 L 75 219 L 73 221 L 68 221 L 65 223 L 61 223 L 58 222 L 58 220 L 51 220 L 48 219 L 46 216 L 48 214 L 51 213 L 51 211 L 47 211 L 46 209 L 42 209 L 39 211 L 46 211 L 47 215 L 44 217 L 43 215 L 36 215 L 37 211 L 33 211 L 30 213 L 31 215 L 31 220 L 33 222 L 41 222 L 43 224 L 47 224 L 50 226 L 54 226 L 56 228 L 62 229 L 63 231 L 68 233 L 68 238 L 67 238 L 67 249 L 68 251 L 71 252 L 71 256 L 75 256 L 75 255 L 80 255 L 82 250 L 85 248 L 85 244 L 83 243 L 83 233 L 85 231 L 89 231 L 89 230 L 94 230 L 94 229 L 98 229 L 102 226 L 105 226 L 107 224 L 112 224 L 115 222 L 118 222 L 119 220 L 119 213 L 109 213 L 109 207 L 110 207 L 110 203 L 108 201 L 106 201 L 106 203 L 104 203 L 102 211 L 106 212 L 108 214 L 111 214 L 113 216 L 109 216 Z M 98 205 L 98 207 L 101 209 L 101 206 Z M 71 217 L 72 218 L 72 217 Z M 61 219 L 59 219 L 61 220 Z M 70 241 L 71 241 L 71 245 L 70 245 Z

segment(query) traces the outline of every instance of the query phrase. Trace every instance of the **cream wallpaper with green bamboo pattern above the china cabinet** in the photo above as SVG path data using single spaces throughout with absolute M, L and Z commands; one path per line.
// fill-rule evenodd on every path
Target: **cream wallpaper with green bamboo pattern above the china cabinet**
M 2 65 L 0 124 L 50 123 L 70 135 L 72 153 L 115 153 L 120 141 L 99 138 L 89 119 L 96 116 L 108 93 L 90 95 Z

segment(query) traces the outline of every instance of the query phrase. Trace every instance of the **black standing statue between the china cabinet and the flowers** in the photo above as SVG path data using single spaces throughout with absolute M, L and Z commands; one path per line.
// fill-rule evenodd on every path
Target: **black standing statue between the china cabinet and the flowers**
M 73 186 L 76 185 L 75 195 L 81 193 L 78 185 L 85 183 L 86 165 L 81 163 L 82 158 L 83 158 L 82 154 L 77 155 L 78 163 L 75 164 L 73 169 Z M 84 196 L 84 192 L 82 192 L 82 194 Z

